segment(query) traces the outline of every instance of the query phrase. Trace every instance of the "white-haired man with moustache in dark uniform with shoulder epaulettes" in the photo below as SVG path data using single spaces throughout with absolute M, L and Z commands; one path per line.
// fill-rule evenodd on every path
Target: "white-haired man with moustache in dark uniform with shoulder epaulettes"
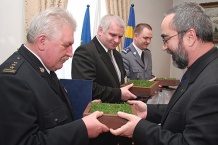
M 109 129 L 102 112 L 73 121 L 54 71 L 72 57 L 75 20 L 61 8 L 34 17 L 27 43 L 0 66 L 1 145 L 86 145 Z

